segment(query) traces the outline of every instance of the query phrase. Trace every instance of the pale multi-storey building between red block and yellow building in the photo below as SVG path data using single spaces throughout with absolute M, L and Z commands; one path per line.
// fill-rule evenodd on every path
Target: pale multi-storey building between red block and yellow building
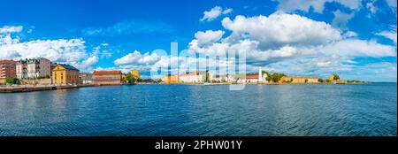
M 51 76 L 51 62 L 46 58 L 19 60 L 16 65 L 17 78 L 34 79 Z

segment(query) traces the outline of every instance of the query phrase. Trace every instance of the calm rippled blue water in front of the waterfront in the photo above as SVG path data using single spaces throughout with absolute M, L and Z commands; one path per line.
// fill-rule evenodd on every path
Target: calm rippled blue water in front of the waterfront
M 397 85 L 135 85 L 0 94 L 0 135 L 397 135 Z

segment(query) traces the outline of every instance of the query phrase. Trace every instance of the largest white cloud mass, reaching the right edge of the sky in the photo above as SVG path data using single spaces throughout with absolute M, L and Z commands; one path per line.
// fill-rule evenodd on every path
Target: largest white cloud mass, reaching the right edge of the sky
M 195 38 L 188 50 L 209 56 L 244 50 L 249 69 L 321 77 L 355 70 L 356 58 L 396 57 L 394 46 L 359 40 L 355 32 L 294 14 L 237 16 L 222 24 L 231 35 L 204 46 Z

